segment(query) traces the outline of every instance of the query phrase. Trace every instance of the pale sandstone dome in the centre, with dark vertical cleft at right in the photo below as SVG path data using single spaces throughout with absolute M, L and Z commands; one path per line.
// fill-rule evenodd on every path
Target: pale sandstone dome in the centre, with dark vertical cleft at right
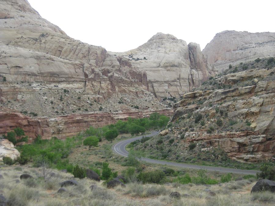
M 146 72 L 149 91 L 156 97 L 182 95 L 212 74 L 200 45 L 187 45 L 170 34 L 157 33 L 137 49 L 117 55 Z

